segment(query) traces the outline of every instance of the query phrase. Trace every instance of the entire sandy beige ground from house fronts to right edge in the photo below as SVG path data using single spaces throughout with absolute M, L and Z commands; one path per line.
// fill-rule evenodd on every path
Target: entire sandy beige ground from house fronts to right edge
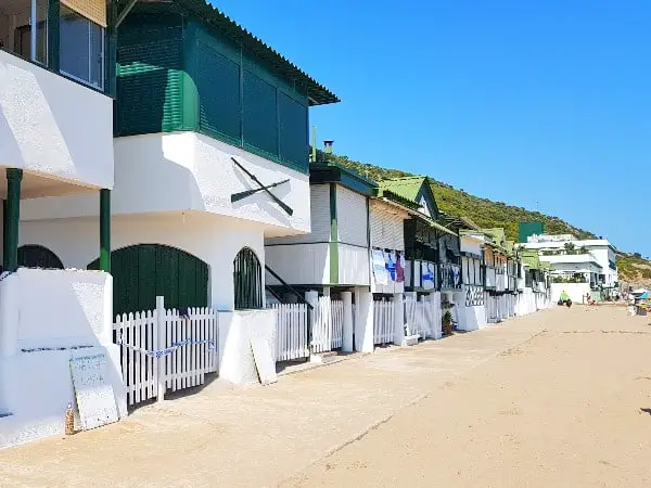
M 217 381 L 108 427 L 2 450 L 0 483 L 651 486 L 650 320 L 554 308 L 267 387 Z

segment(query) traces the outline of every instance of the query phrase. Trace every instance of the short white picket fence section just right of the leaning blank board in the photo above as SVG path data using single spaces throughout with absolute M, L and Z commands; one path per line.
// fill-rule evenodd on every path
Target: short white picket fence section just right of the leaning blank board
M 275 304 L 276 361 L 308 358 L 307 305 Z

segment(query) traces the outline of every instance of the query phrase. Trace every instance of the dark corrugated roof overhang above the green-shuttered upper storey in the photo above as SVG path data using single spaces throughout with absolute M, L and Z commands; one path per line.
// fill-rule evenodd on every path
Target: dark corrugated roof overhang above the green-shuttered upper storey
M 173 0 L 173 2 L 254 52 L 278 73 L 304 84 L 310 105 L 324 105 L 340 101 L 328 88 L 205 0 Z

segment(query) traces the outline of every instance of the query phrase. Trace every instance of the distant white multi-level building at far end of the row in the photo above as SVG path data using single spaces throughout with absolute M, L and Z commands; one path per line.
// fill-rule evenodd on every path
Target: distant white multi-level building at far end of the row
M 578 240 L 572 234 L 538 234 L 520 246 L 538 251 L 540 261 L 549 262 L 552 275 L 584 275 L 592 287 L 613 288 L 618 285 L 615 248 L 605 239 Z

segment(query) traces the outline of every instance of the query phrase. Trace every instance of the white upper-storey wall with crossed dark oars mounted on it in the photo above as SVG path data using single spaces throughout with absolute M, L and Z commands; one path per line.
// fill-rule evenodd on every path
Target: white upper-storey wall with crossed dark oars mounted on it
M 231 156 L 263 184 L 289 179 L 270 191 L 293 209 L 289 216 L 267 192 L 231 203 L 231 195 L 258 188 Z M 23 204 L 26 219 L 99 215 L 97 195 L 35 198 Z M 308 176 L 195 132 L 115 139 L 115 216 L 202 211 L 267 226 L 269 235 L 309 232 Z

